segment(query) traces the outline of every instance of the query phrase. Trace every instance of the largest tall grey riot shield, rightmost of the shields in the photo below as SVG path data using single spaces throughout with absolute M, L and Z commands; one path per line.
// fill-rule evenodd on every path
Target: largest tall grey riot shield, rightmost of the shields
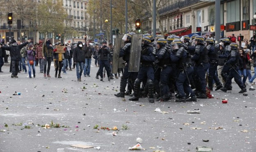
M 130 47 L 128 72 L 139 72 L 142 34 L 133 34 Z

